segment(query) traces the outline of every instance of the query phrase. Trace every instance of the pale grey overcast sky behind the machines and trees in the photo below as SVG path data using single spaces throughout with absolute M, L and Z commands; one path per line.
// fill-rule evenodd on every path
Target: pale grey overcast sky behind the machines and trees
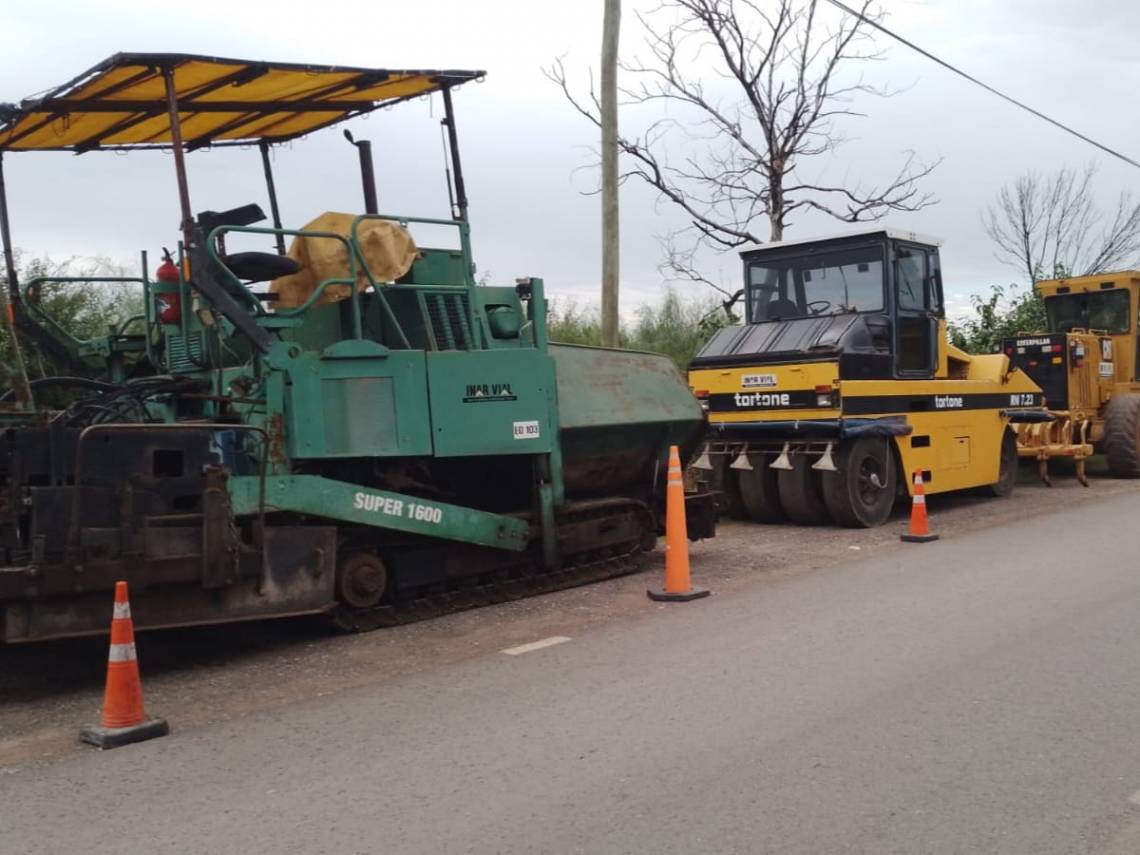
M 642 40 L 626 0 L 621 50 Z M 158 11 L 161 6 L 161 11 Z M 1134 93 L 1140 84 L 1140 5 L 1132 0 L 887 0 L 887 24 L 945 59 L 1031 105 L 1140 158 Z M 596 300 L 598 202 L 592 125 L 576 115 L 542 68 L 562 56 L 583 87 L 596 66 L 601 0 L 242 0 L 156 5 L 152 0 L 44 0 L 0 5 L 0 101 L 57 85 L 116 51 L 180 51 L 250 59 L 388 68 L 481 68 L 486 82 L 456 92 L 471 199 L 475 259 L 492 279 L 543 276 L 555 296 Z M 903 87 L 857 106 L 865 119 L 840 130 L 849 141 L 831 174 L 883 178 L 906 150 L 943 162 L 923 187 L 938 204 L 889 225 L 945 239 L 947 294 L 958 302 L 1018 278 L 994 258 L 980 211 L 1002 182 L 1027 169 L 1100 164 L 1098 195 L 1110 204 L 1135 187 L 1135 169 L 997 100 L 906 48 L 880 41 L 886 60 L 871 79 Z M 382 212 L 447 211 L 440 107 L 421 100 L 348 124 L 370 138 Z M 255 149 L 188 157 L 195 210 L 263 202 Z M 299 226 L 325 210 L 359 210 L 353 150 L 325 131 L 278 150 L 284 219 Z M 130 263 L 177 239 L 178 202 L 169 154 L 13 154 L 6 158 L 14 242 L 30 254 L 105 255 Z M 263 206 L 268 207 L 268 205 Z M 645 187 L 621 196 L 622 312 L 657 299 L 657 236 L 674 212 Z M 845 227 L 793 223 L 788 237 Z M 734 255 L 707 259 L 714 278 L 734 283 Z M 697 286 L 687 286 L 694 288 Z M 705 291 L 708 291 L 707 288 Z

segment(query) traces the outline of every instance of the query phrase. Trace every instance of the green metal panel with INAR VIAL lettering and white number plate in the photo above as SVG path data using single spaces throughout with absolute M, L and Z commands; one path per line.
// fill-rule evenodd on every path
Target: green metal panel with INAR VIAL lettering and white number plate
M 554 363 L 536 350 L 427 353 L 435 455 L 546 454 Z

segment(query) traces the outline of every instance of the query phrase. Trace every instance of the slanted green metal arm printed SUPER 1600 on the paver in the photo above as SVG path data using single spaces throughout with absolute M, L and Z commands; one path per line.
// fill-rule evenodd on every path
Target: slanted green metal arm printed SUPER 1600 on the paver
M 260 478 L 234 477 L 229 479 L 228 488 L 235 514 L 253 515 L 259 512 Z M 527 548 L 530 532 L 527 521 L 516 516 L 374 490 L 320 475 L 268 478 L 266 510 L 311 514 L 512 552 Z

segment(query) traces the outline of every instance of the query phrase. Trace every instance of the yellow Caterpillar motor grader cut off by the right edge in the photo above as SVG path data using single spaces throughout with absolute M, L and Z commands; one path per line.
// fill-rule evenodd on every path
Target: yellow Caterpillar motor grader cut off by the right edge
M 1140 271 L 1049 279 L 1035 285 L 1049 332 L 1007 339 L 1011 364 L 1041 386 L 1052 421 L 1016 425 L 1017 453 L 1036 459 L 1049 483 L 1049 461 L 1072 458 L 1085 487 L 1085 461 L 1102 453 L 1108 470 L 1140 477 Z

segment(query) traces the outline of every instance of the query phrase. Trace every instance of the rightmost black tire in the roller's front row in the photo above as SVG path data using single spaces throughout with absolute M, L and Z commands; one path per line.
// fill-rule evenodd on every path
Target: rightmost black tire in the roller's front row
M 885 523 L 898 494 L 889 440 L 863 437 L 840 443 L 836 470 L 823 473 L 823 499 L 836 522 L 853 529 Z

